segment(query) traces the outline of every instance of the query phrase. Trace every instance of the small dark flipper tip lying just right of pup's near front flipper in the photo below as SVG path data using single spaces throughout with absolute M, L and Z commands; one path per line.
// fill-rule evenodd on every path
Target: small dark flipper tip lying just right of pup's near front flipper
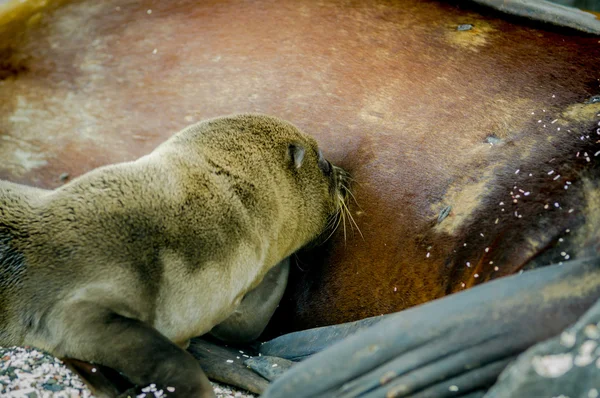
M 211 380 L 231 384 L 256 394 L 261 394 L 269 385 L 266 379 L 244 364 L 244 361 L 254 354 L 249 350 L 217 345 L 196 338 L 190 342 L 188 352 L 198 360 L 200 367 Z

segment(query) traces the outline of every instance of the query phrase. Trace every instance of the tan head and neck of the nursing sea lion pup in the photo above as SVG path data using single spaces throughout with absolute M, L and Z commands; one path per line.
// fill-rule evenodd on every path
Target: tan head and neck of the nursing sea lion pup
M 165 145 L 191 152 L 192 158 L 199 154 L 202 169 L 208 166 L 221 178 L 230 199 L 241 203 L 259 226 L 253 231 L 272 233 L 278 255 L 330 235 L 345 209 L 348 174 L 323 157 L 312 137 L 278 118 L 241 114 L 210 119 L 184 129 Z M 164 152 L 161 147 L 158 152 Z M 195 174 L 194 164 L 187 166 L 186 175 Z M 198 182 L 205 179 L 197 177 Z

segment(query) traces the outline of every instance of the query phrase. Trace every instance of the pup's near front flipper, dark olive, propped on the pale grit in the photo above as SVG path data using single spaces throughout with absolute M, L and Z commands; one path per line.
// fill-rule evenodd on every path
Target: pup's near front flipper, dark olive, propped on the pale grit
M 121 396 L 137 395 L 138 390 L 154 384 L 169 397 L 214 397 L 198 362 L 143 322 L 87 303 L 65 310 L 60 322 L 66 328 L 62 329 L 59 356 L 122 373 L 137 388 Z

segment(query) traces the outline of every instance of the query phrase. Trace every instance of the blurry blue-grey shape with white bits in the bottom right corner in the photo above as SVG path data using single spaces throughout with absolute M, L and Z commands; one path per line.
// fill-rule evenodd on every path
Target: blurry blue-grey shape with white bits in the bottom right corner
M 599 322 L 600 301 L 560 336 L 523 353 L 486 398 L 600 396 Z

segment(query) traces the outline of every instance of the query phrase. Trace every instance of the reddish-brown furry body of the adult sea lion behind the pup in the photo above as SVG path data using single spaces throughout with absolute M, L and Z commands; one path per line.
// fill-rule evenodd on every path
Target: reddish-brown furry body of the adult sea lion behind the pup
M 402 310 L 549 248 L 560 260 L 561 244 L 575 255 L 598 214 L 598 37 L 420 0 L 3 7 L 1 178 L 56 187 L 248 111 L 352 172 L 364 238 L 347 225 L 300 256 L 278 331 Z

